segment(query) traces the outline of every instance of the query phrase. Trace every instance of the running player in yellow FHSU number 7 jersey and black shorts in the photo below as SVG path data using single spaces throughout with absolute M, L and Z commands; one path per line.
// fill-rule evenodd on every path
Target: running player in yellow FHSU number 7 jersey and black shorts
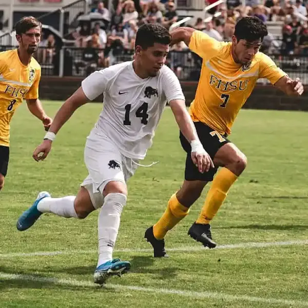
M 265 54 L 259 52 L 266 26 L 257 17 L 244 17 L 235 27 L 232 42 L 218 42 L 192 28 L 178 28 L 171 32 L 172 42 L 184 41 L 190 50 L 203 59 L 195 100 L 190 115 L 204 149 L 215 168 L 201 173 L 192 163 L 190 146 L 180 134 L 180 141 L 188 153 L 185 180 L 180 190 L 171 196 L 161 219 L 145 232 L 155 257 L 166 257 L 164 237 L 183 219 L 189 207 L 200 197 L 207 182 L 213 181 L 201 214 L 188 230 L 188 235 L 205 247 L 216 243 L 210 233 L 210 221 L 216 215 L 227 193 L 246 167 L 245 155 L 228 139 L 231 127 L 241 107 L 252 93 L 259 78 L 266 78 L 288 95 L 301 95 L 299 80 L 291 80 Z M 217 175 L 218 167 L 222 167 Z

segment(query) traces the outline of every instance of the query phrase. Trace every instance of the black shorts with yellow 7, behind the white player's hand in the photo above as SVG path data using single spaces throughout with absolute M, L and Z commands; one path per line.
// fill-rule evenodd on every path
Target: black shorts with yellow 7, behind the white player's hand
M 215 129 L 210 128 L 206 124 L 202 122 L 194 122 L 197 130 L 198 137 L 207 151 L 208 155 L 212 160 L 214 160 L 214 156 L 217 151 L 226 143 L 230 141 L 227 139 L 227 135 L 221 136 Z M 187 139 L 183 136 L 182 132 L 180 132 L 180 141 L 183 149 L 187 153 L 186 157 L 186 165 L 185 165 L 185 180 L 187 181 L 213 181 L 214 175 L 217 172 L 218 167 L 210 168 L 208 172 L 204 172 L 203 174 L 199 172 L 198 167 L 191 160 L 191 146 Z

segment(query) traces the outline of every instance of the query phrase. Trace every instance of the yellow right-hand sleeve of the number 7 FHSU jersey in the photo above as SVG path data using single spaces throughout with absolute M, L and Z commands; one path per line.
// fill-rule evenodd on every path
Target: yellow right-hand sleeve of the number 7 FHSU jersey
M 274 85 L 280 78 L 286 75 L 268 55 L 260 52 L 259 57 L 259 78 L 266 78 Z

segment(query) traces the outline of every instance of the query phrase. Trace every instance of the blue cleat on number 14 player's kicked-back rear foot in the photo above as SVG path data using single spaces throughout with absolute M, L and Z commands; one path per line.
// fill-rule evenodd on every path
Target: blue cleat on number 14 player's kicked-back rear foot
M 27 210 L 25 210 L 22 216 L 18 218 L 16 224 L 18 230 L 20 231 L 27 230 L 43 214 L 37 209 L 37 204 L 46 197 L 51 197 L 49 192 L 47 191 L 41 191 L 40 194 L 37 195 L 33 205 L 29 207 Z

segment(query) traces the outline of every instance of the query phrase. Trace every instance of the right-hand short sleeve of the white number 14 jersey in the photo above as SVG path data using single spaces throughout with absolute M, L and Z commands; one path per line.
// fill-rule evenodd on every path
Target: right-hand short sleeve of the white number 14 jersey
M 172 100 L 185 101 L 182 87 L 176 74 L 172 72 L 171 69 L 169 69 L 167 66 L 164 66 L 162 70 L 163 93 L 166 97 L 167 103 Z

